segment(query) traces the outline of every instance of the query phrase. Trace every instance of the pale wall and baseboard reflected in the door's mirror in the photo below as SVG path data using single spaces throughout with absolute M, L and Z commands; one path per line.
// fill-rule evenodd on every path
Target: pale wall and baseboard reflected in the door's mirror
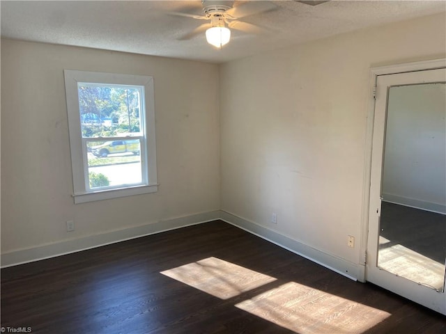
M 446 84 L 390 88 L 383 200 L 446 214 Z

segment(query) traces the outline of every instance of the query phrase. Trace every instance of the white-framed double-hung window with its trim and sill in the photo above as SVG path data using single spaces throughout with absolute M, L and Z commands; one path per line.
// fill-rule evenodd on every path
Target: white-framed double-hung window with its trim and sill
M 64 74 L 75 203 L 157 191 L 153 77 Z

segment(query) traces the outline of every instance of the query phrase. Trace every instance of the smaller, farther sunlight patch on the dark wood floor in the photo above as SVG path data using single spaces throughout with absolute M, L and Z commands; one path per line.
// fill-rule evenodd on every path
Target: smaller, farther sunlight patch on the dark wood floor
M 217 257 L 208 257 L 161 273 L 220 299 L 238 296 L 276 280 Z

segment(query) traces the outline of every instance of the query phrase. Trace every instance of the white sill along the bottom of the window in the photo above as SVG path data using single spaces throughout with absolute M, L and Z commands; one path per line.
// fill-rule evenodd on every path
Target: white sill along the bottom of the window
M 141 195 L 143 193 L 155 193 L 158 191 L 159 184 L 148 184 L 144 186 L 131 186 L 121 189 L 107 189 L 91 193 L 75 193 L 75 204 L 94 202 L 96 200 L 109 200 L 111 198 L 120 198 L 133 195 Z

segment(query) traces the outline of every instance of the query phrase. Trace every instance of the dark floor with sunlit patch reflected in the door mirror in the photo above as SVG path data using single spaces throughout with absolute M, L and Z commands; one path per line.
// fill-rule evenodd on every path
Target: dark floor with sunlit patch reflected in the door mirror
M 446 216 L 382 202 L 378 267 L 443 292 Z

